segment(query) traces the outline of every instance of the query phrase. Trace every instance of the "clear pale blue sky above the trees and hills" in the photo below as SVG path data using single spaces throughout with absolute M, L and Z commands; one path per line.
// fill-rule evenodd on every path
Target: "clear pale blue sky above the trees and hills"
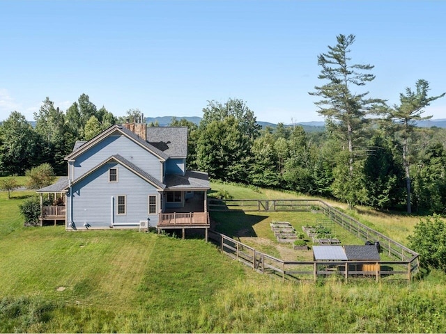
M 439 95 L 445 14 L 446 1 L 0 0 L 0 120 L 82 93 L 116 116 L 202 116 L 238 98 L 257 120 L 323 120 L 308 92 L 340 33 L 356 35 L 352 63 L 375 66 L 357 93 L 396 104 L 426 79 Z M 446 98 L 425 115 L 446 118 Z

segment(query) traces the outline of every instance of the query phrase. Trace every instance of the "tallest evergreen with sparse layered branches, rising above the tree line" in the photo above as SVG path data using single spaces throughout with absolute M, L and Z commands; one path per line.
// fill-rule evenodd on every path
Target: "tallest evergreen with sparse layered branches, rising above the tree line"
M 322 67 L 318 79 L 325 81 L 325 84 L 316 86 L 316 91 L 309 93 L 321 97 L 321 100 L 315 102 L 319 108 L 318 113 L 325 117 L 328 130 L 337 136 L 343 143 L 343 148 L 346 148 L 347 154 L 343 157 L 347 157 L 345 167 L 348 173 L 342 172 L 338 175 L 344 175 L 347 179 L 336 184 L 344 185 L 344 182 L 347 182 L 350 186 L 358 184 L 357 177 L 353 175 L 353 166 L 355 158 L 364 155 L 364 132 L 368 130 L 370 120 L 367 116 L 375 104 L 382 103 L 381 100 L 367 98 L 367 91 L 356 93 L 357 87 L 373 81 L 375 76 L 369 73 L 374 68 L 373 65 L 351 64 L 348 53 L 353 42 L 355 35 L 338 35 L 337 45 L 329 46 L 327 53 L 318 56 L 318 65 Z M 342 194 L 341 189 L 348 190 L 348 194 Z M 348 186 L 341 186 L 341 189 L 336 189 L 335 192 L 342 198 L 351 198 L 351 203 L 357 202 L 354 198 L 355 189 L 352 191 Z M 361 189 L 356 190 L 359 193 Z

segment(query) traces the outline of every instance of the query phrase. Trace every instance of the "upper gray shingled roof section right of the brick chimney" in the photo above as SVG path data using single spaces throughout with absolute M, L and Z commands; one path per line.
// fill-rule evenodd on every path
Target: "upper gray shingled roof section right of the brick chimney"
M 187 127 L 147 127 L 147 141 L 171 158 L 187 156 Z

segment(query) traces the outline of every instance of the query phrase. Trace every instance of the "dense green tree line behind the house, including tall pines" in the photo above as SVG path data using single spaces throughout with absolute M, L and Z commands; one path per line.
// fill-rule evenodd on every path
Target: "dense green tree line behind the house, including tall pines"
M 355 35 L 338 35 L 337 44 L 318 56 L 321 86 L 310 95 L 325 117 L 325 132 L 299 126 L 262 127 L 246 102 L 209 101 L 199 125 L 188 127 L 188 169 L 207 171 L 215 180 L 240 182 L 335 198 L 348 205 L 406 212 L 444 213 L 446 208 L 445 129 L 420 129 L 424 108 L 445 93 L 429 96 L 429 83 L 415 82 L 399 104 L 357 93 L 375 79 L 374 66 L 349 58 Z M 23 175 L 39 164 L 66 175 L 63 157 L 75 141 L 88 141 L 116 123 L 141 118 L 130 109 L 117 118 L 97 109 L 82 94 L 63 112 L 49 97 L 34 114 L 36 127 L 13 111 L 0 125 L 0 173 Z M 150 124 L 149 126 L 157 126 Z

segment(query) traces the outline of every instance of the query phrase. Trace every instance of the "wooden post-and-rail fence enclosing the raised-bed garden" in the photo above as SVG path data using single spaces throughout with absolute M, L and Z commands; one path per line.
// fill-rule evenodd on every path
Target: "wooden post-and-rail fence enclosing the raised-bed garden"
M 246 264 L 260 273 L 272 273 L 282 279 L 318 280 L 339 277 L 345 280 L 374 278 L 376 280 L 408 280 L 420 268 L 418 254 L 397 241 L 386 237 L 354 218 L 331 207 L 322 200 L 210 200 L 210 211 L 310 211 L 321 210 L 325 216 L 364 241 L 376 240 L 380 248 L 394 261 L 299 261 L 291 262 L 261 253 L 235 239 L 210 232 L 210 238 L 220 244 L 222 253 Z

